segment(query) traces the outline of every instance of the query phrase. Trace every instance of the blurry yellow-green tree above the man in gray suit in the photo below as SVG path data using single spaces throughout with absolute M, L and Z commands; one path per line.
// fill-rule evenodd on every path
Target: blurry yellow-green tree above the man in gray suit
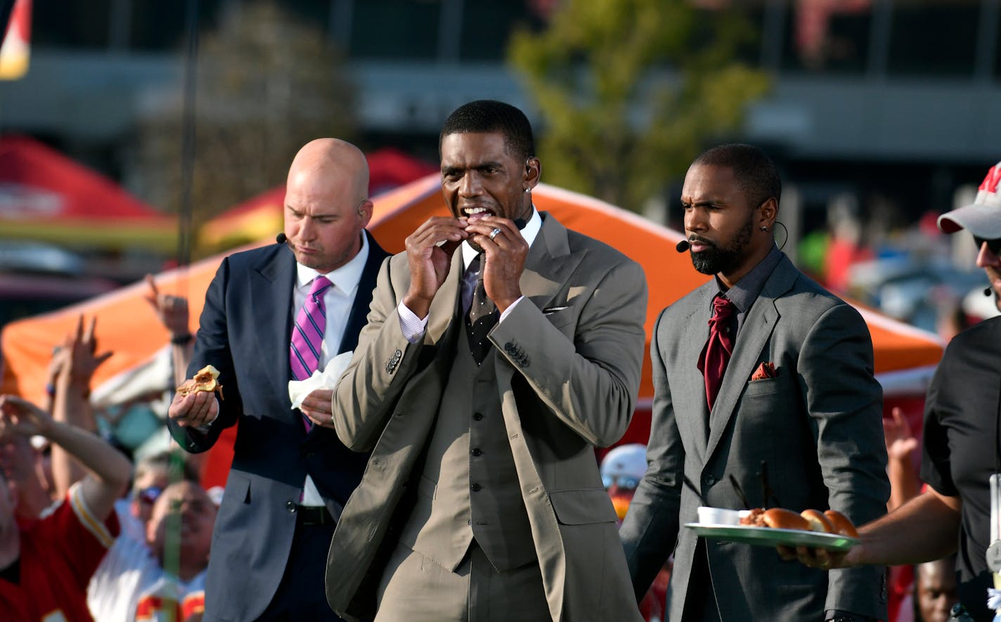
M 733 10 L 691 0 L 564 0 L 509 62 L 543 117 L 547 181 L 638 209 L 736 128 L 769 78 L 736 60 L 753 38 Z

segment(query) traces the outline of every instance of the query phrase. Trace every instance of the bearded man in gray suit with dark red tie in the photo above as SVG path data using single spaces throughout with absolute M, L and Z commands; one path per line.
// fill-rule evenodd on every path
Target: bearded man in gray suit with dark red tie
M 780 194 L 775 164 L 751 145 L 710 149 L 685 177 L 692 262 L 714 278 L 658 319 L 649 468 L 620 532 L 638 598 L 674 552 L 671 620 L 887 615 L 882 569 L 828 574 L 681 528 L 701 505 L 742 509 L 742 495 L 860 525 L 886 512 L 869 332 L 775 246 Z

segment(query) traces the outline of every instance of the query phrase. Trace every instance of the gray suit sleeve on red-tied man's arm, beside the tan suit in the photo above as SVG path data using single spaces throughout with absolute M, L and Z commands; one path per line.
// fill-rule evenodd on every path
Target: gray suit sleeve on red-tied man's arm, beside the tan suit
M 659 338 L 662 331 L 667 330 L 662 328 L 666 313 L 661 313 L 654 327 L 650 346 L 654 409 L 647 444 L 647 473 L 630 501 L 629 513 L 619 530 L 637 601 L 647 593 L 678 541 L 685 449 L 678 433 L 671 383 L 661 355 L 664 346 Z

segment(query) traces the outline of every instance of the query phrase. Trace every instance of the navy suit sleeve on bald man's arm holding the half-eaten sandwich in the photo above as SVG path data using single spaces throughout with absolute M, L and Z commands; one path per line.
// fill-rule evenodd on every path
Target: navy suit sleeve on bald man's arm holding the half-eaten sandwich
M 194 353 L 187 370 L 188 378 L 192 378 L 195 372 L 208 364 L 219 371 L 219 383 L 223 386 L 225 396 L 224 400 L 219 400 L 219 416 L 204 433 L 178 426 L 172 419 L 167 418 L 170 435 L 184 450 L 192 454 L 207 451 L 215 445 L 219 434 L 235 424 L 243 410 L 233 357 L 229 350 L 229 331 L 226 325 L 225 300 L 231 276 L 230 268 L 231 263 L 227 257 L 222 260 L 205 292 L 205 305 L 198 320 Z

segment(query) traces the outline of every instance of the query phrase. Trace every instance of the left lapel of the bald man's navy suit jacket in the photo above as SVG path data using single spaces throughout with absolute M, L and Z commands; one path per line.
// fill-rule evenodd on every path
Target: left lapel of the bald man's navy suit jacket
M 295 282 L 295 259 L 284 246 L 250 272 L 250 304 L 254 322 L 257 352 L 280 353 L 272 365 L 277 371 L 267 374 L 274 395 L 288 394 L 292 377 L 288 344 L 292 335 L 292 286 Z

